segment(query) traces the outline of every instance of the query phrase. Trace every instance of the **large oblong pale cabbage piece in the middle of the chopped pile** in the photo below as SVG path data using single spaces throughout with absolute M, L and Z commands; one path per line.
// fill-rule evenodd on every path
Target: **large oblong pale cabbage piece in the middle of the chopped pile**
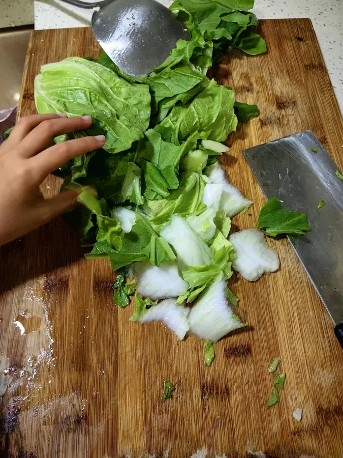
M 211 250 L 182 216 L 172 215 L 162 229 L 161 237 L 174 247 L 180 269 L 202 266 L 212 261 Z

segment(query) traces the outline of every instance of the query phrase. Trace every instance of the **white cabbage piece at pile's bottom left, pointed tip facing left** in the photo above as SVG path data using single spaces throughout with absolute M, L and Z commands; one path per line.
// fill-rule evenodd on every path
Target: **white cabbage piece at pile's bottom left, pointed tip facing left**
M 189 313 L 190 309 L 183 304 L 177 305 L 175 298 L 165 299 L 145 309 L 136 321 L 139 323 L 162 321 L 179 340 L 182 340 L 190 329 Z

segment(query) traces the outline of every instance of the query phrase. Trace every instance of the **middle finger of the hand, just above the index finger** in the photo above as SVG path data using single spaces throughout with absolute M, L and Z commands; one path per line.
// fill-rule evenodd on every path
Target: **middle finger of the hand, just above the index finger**
M 91 122 L 90 116 L 44 120 L 21 141 L 19 154 L 23 157 L 33 157 L 48 148 L 58 135 L 88 129 Z

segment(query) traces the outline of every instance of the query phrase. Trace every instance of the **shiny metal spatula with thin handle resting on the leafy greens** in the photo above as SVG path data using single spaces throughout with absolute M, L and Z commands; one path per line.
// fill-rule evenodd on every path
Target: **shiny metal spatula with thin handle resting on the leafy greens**
M 92 9 L 93 33 L 100 46 L 120 70 L 143 76 L 159 67 L 176 42 L 190 37 L 183 22 L 154 0 L 63 0 L 69 5 Z

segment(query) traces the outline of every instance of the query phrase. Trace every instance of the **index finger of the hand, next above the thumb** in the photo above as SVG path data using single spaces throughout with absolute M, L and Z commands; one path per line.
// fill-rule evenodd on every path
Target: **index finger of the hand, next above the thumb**
M 63 141 L 46 149 L 30 159 L 32 166 L 38 174 L 37 180 L 42 182 L 52 171 L 61 167 L 74 157 L 102 148 L 105 140 L 104 135 L 82 137 L 75 140 Z

